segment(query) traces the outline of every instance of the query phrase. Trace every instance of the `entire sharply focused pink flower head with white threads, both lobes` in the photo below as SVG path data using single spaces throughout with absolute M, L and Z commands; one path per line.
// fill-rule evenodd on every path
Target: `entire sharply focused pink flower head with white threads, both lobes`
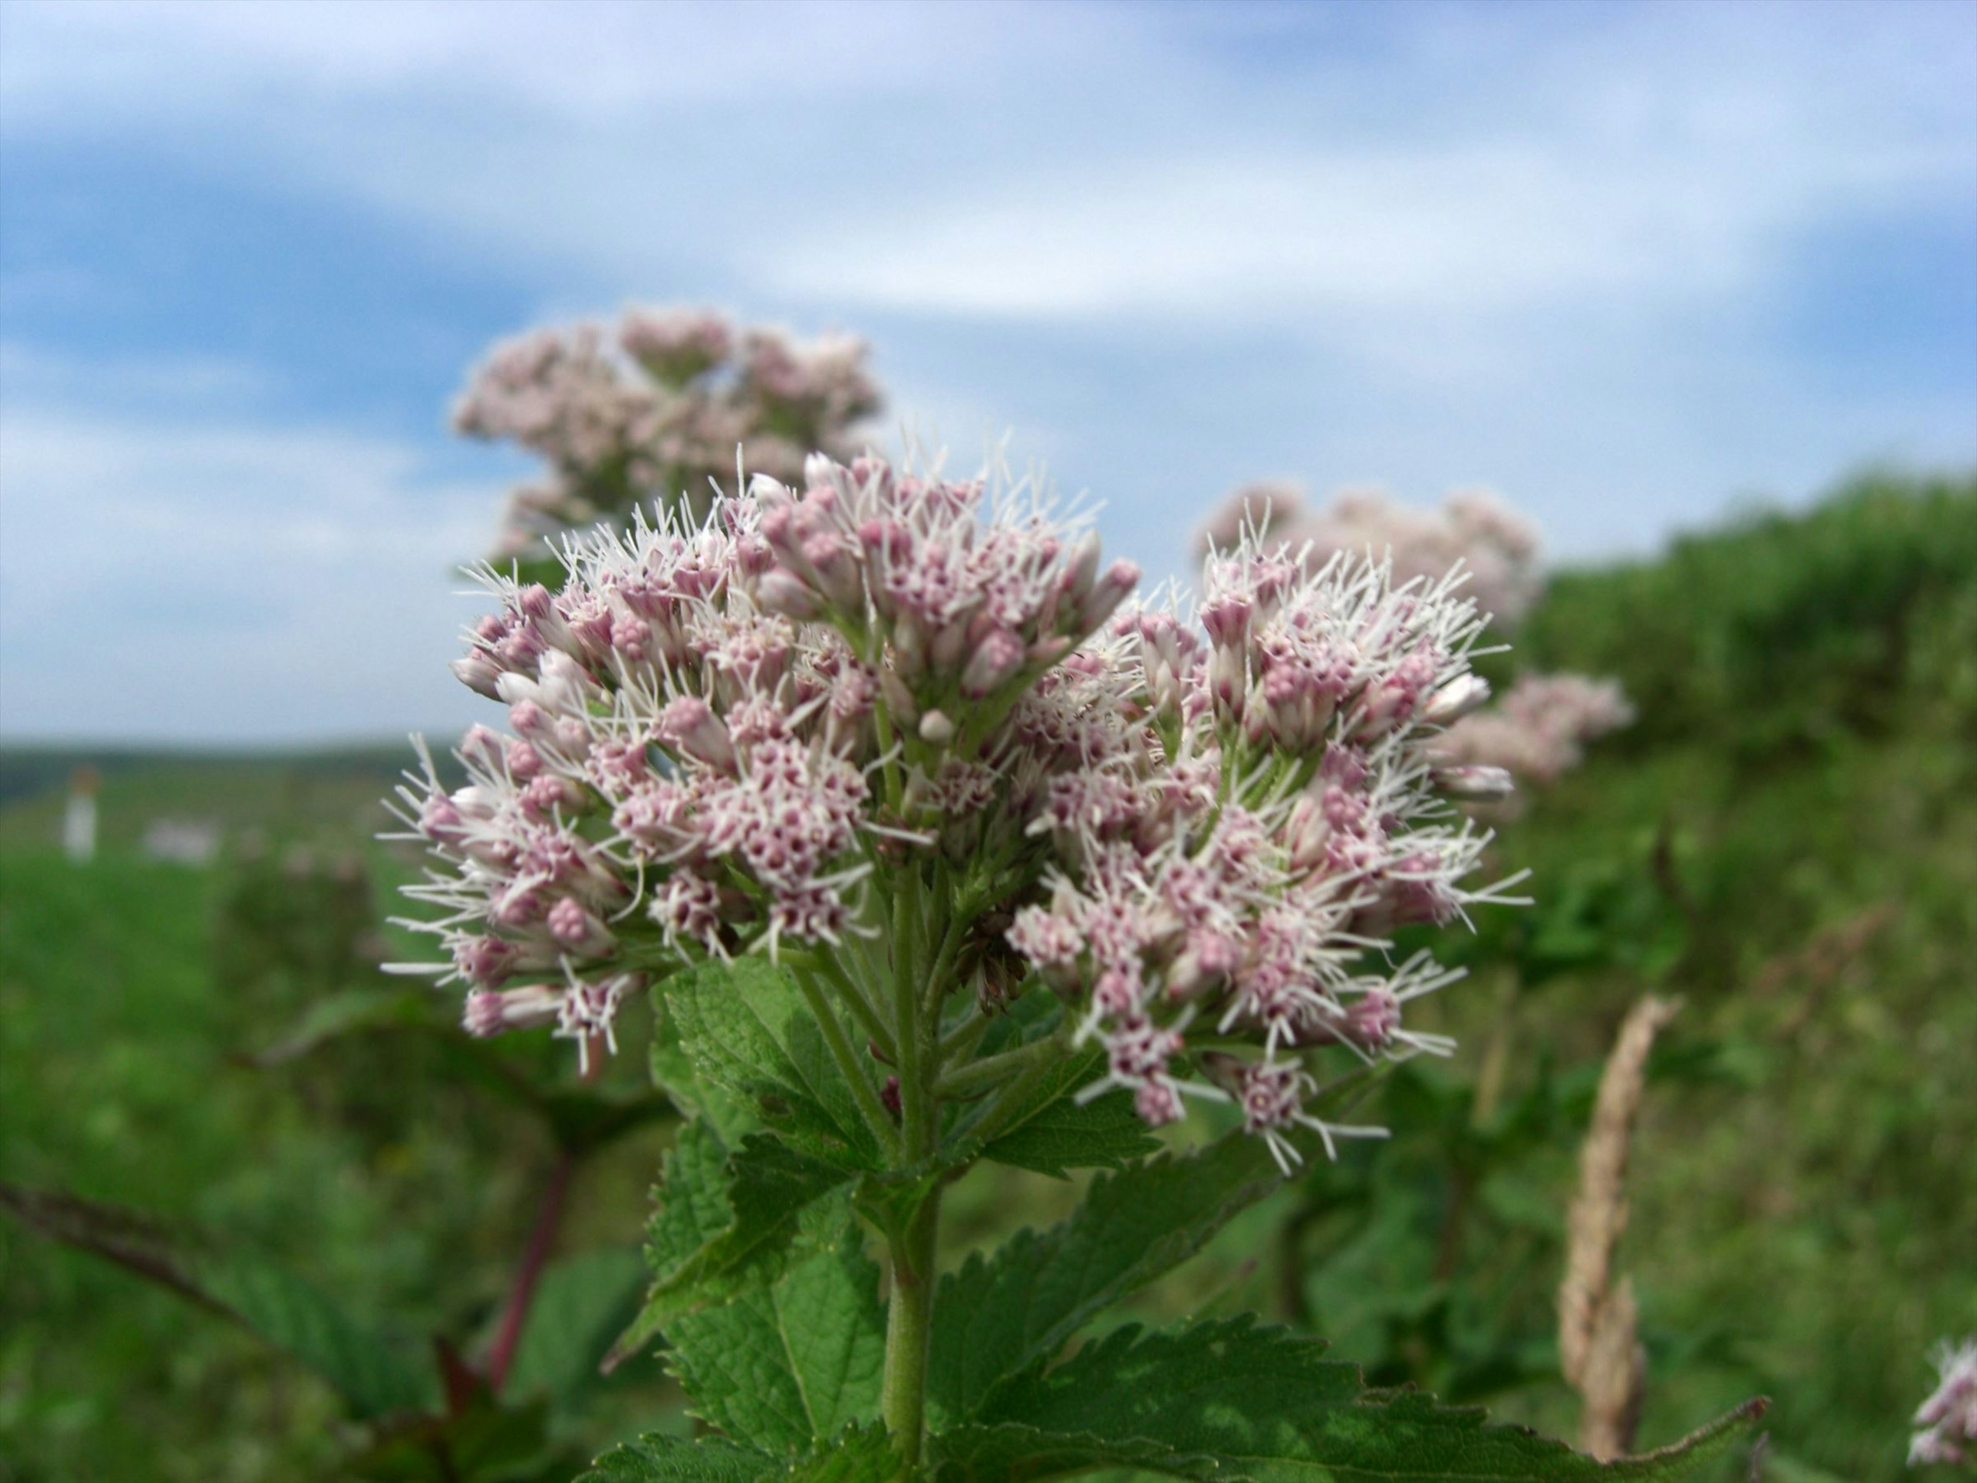
M 607 1040 L 680 957 L 856 977 L 911 882 L 949 892 L 953 989 L 1048 985 L 1153 1123 L 1234 1095 L 1289 1159 L 1297 1123 L 1366 1131 L 1307 1109 L 1315 1048 L 1445 1048 L 1404 1012 L 1451 975 L 1384 949 L 1504 900 L 1447 799 L 1508 779 L 1433 755 L 1487 696 L 1455 579 L 1246 540 L 1194 619 L 1127 605 L 1137 569 L 1026 482 L 822 455 L 563 562 L 561 591 L 480 569 L 500 611 L 455 672 L 510 732 L 401 791 L 469 1028 Z

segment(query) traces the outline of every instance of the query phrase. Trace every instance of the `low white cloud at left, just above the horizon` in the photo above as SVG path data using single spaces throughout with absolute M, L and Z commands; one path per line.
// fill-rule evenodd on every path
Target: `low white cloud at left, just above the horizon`
M 0 419 L 0 732 L 275 742 L 469 714 L 451 577 L 496 490 L 336 429 Z

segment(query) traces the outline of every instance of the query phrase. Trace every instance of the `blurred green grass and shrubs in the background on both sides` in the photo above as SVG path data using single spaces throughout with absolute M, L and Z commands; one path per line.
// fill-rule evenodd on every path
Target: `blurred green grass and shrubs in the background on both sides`
M 1621 1016 L 1678 995 L 1621 1254 L 1639 1441 L 1763 1392 L 1767 1477 L 1900 1477 L 1928 1345 L 1977 1329 L 1977 482 L 1864 477 L 1562 573 L 1493 662 L 1615 674 L 1641 720 L 1499 825 L 1536 906 L 1459 943 L 1471 981 L 1421 1028 L 1461 1052 L 1358 1109 L 1394 1139 L 1344 1145 L 1137 1315 L 1261 1309 L 1378 1382 L 1576 1434 L 1554 1295 L 1578 1141 Z M 411 864 L 366 836 L 397 753 L 105 757 L 91 866 L 53 848 L 73 761 L 0 755 L 0 1178 L 279 1256 L 413 1339 L 484 1341 L 554 1161 L 542 1119 L 455 1076 L 445 1036 L 328 1032 L 391 989 L 382 917 Z M 144 860 L 156 817 L 219 823 L 221 860 Z M 312 1044 L 310 1016 L 310 1054 L 243 1058 Z M 567 1078 L 567 1046 L 510 1040 L 530 1078 Z M 631 1093 L 637 1058 L 611 1078 Z M 666 1137 L 583 1171 L 559 1254 L 635 1244 Z M 994 1169 L 957 1186 L 947 1248 L 1074 1198 Z M 243 1331 L 8 1220 L 0 1262 L 0 1479 L 348 1457 L 334 1396 Z M 650 1370 L 565 1416 L 579 1449 L 684 1426 Z

